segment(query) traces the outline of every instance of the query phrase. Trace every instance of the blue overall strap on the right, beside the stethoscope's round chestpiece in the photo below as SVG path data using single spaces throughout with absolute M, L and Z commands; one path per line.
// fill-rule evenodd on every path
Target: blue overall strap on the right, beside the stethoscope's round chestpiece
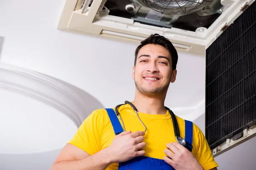
M 185 141 L 187 149 L 191 152 L 193 148 L 193 123 L 188 120 L 185 120 Z

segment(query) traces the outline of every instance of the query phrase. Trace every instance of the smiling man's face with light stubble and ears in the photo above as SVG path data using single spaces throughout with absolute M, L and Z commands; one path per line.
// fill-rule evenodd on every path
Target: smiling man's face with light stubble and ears
M 161 45 L 148 44 L 138 53 L 132 78 L 140 93 L 160 96 L 166 94 L 170 82 L 175 82 L 176 74 L 169 51 Z

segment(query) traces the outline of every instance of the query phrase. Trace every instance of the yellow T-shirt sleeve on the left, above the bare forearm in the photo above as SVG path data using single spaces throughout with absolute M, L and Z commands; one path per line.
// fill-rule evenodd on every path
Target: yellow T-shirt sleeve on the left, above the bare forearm
M 100 151 L 102 129 L 102 119 L 99 114 L 94 111 L 84 120 L 68 143 L 79 147 L 90 155 L 93 155 Z

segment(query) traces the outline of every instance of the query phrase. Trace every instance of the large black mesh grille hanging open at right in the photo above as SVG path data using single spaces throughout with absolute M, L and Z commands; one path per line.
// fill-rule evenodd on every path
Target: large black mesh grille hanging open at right
M 256 124 L 256 2 L 206 51 L 206 139 L 213 149 Z

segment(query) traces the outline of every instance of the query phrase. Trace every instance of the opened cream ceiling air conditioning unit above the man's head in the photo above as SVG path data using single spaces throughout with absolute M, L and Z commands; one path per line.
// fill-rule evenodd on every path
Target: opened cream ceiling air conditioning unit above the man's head
M 66 0 L 59 30 L 139 43 L 150 34 L 175 48 L 206 48 L 254 0 Z

